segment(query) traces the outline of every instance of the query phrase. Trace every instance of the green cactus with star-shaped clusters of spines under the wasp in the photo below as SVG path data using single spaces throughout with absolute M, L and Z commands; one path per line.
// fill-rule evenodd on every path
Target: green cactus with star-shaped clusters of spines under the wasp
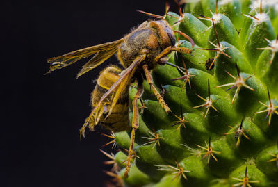
M 152 72 L 171 114 L 145 83 L 128 178 L 130 132 L 113 134 L 121 151 L 109 156 L 107 174 L 118 185 L 278 186 L 278 4 L 271 3 L 201 0 L 165 15 L 193 38 L 194 51 L 171 54 L 176 67 Z M 130 99 L 135 93 L 133 86 Z

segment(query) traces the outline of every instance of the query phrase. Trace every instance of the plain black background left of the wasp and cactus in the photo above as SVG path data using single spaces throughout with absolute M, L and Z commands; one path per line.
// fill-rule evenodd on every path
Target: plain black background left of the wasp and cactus
M 4 1 L 1 3 L 1 186 L 104 186 L 109 141 L 98 132 L 79 140 L 90 114 L 90 92 L 99 71 L 76 80 L 85 60 L 44 76 L 46 59 L 111 42 L 149 17 L 165 1 Z M 111 146 L 101 148 L 110 152 Z

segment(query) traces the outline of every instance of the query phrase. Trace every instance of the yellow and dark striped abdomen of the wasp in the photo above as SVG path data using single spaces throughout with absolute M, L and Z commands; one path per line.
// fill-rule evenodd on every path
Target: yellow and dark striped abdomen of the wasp
M 97 86 L 95 86 L 94 91 L 92 92 L 91 102 L 92 107 L 95 108 L 97 106 L 101 97 L 111 88 L 113 83 L 120 78 L 119 74 L 122 72 L 120 68 L 110 66 L 106 67 L 99 74 L 99 78 L 97 79 Z M 125 88 L 122 95 L 117 100 L 117 104 L 112 110 L 111 115 L 106 117 L 106 111 L 109 111 L 109 107 L 111 104 L 111 95 L 109 95 L 104 102 L 107 103 L 106 107 L 104 107 L 104 114 L 99 120 L 100 124 L 104 126 L 106 129 L 110 129 L 111 131 L 124 131 L 129 129 L 129 88 Z M 112 92 L 113 94 L 114 92 Z M 105 118 L 106 117 L 106 118 Z

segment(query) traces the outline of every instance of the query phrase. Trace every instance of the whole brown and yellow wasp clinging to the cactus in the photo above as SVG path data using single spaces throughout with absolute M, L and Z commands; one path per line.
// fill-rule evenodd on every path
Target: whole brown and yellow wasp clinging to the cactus
M 81 129 L 83 136 L 85 127 L 90 127 L 92 130 L 99 122 L 112 131 L 129 128 L 128 124 L 124 123 L 126 122 L 124 117 L 127 116 L 125 114 L 128 108 L 127 105 L 124 105 L 126 104 L 126 99 L 128 99 L 125 95 L 128 94 L 127 89 L 130 84 L 137 81 L 138 92 L 132 102 L 131 145 L 129 147 L 129 156 L 126 160 L 126 172 L 124 174 L 126 177 L 131 166 L 131 158 L 134 157 L 133 143 L 135 140 L 135 131 L 139 126 L 138 99 L 140 99 L 143 92 L 142 82 L 144 79 L 147 79 L 164 111 L 166 113 L 171 112 L 163 97 L 156 90 L 150 70 L 154 69 L 158 64 L 164 65 L 164 57 L 172 51 L 191 53 L 191 49 L 175 46 L 174 32 L 165 20 L 146 21 L 140 24 L 137 29 L 124 36 L 124 38 L 115 42 L 99 44 L 48 59 L 48 62 L 51 63 L 49 72 L 52 72 L 56 69 L 71 65 L 81 58 L 95 54 L 88 63 L 83 65 L 78 74 L 78 76 L 81 76 L 117 52 L 117 58 L 124 67 L 122 72 L 116 67 L 107 67 L 101 72 L 97 80 L 97 87 L 92 93 L 92 106 L 94 108 Z M 181 31 L 177 31 L 177 33 L 188 38 L 192 46 L 194 46 L 194 42 L 190 37 L 181 33 Z M 117 113 L 120 113 L 120 115 L 117 115 Z M 123 117 L 123 120 L 120 120 L 120 117 Z

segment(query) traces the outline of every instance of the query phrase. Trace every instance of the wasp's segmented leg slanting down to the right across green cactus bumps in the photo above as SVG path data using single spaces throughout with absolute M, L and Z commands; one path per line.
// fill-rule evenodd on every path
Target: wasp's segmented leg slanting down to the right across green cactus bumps
M 143 70 L 145 72 L 147 82 L 152 87 L 152 90 L 154 90 L 154 95 L 156 95 L 156 98 L 158 99 L 158 102 L 161 104 L 162 108 L 166 113 L 172 112 L 171 109 L 167 106 L 165 103 L 163 97 L 160 95 L 158 90 L 156 90 L 156 87 L 154 86 L 154 81 L 152 80 L 152 74 L 149 72 L 147 65 L 143 65 Z

